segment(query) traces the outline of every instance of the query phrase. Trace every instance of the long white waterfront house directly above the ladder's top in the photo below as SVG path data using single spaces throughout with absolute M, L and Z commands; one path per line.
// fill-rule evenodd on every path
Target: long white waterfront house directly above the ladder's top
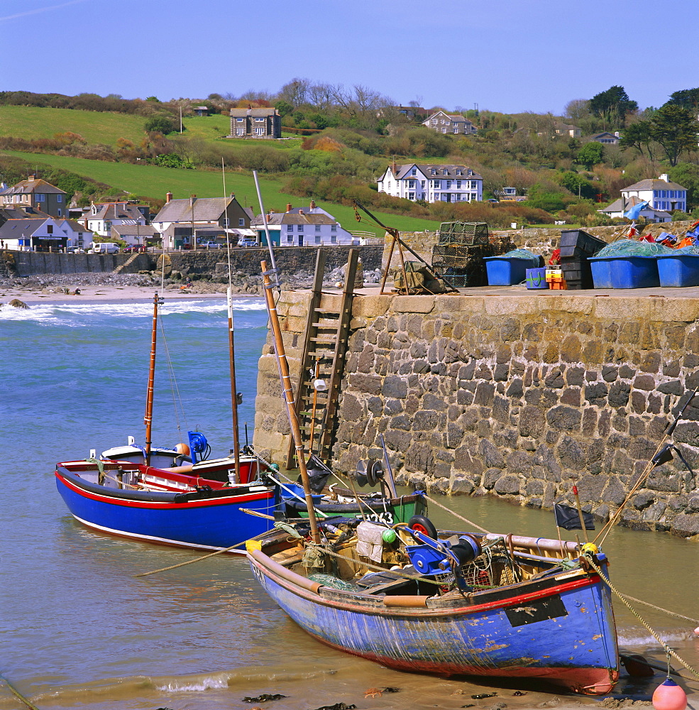
M 267 215 L 270 239 L 280 246 L 352 246 L 359 244 L 353 236 L 324 209 L 311 201 L 309 207 L 292 207 L 287 204 L 286 212 L 272 212 Z M 258 215 L 250 223 L 257 236 L 258 244 L 265 243 L 265 226 Z

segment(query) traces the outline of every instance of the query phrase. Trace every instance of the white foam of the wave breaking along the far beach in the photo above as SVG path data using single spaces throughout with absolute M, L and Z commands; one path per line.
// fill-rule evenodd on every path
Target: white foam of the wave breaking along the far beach
M 265 302 L 261 298 L 243 297 L 233 301 L 234 312 L 263 311 Z M 167 316 L 202 314 L 225 315 L 226 301 L 212 298 L 192 301 L 165 300 L 160 307 L 163 319 Z M 143 318 L 153 314 L 150 302 L 117 302 L 104 303 L 92 301 L 88 303 L 37 303 L 29 308 L 0 308 L 0 320 L 35 321 L 46 325 L 67 325 L 84 327 L 92 324 L 95 317 Z

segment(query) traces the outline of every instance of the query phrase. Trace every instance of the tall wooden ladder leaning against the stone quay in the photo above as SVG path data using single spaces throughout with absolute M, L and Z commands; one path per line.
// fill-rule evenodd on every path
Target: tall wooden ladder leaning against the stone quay
M 316 258 L 295 406 L 301 432 L 306 439 L 304 450 L 316 454 L 326 464 L 332 459 L 336 437 L 337 405 L 352 319 L 358 257 L 359 250 L 350 249 L 339 306 L 332 303 L 337 302 L 337 296 L 324 298 L 322 293 L 326 253 L 319 249 Z M 316 388 L 316 380 L 323 381 L 326 388 Z M 297 465 L 295 449 L 291 445 L 287 468 L 296 468 Z

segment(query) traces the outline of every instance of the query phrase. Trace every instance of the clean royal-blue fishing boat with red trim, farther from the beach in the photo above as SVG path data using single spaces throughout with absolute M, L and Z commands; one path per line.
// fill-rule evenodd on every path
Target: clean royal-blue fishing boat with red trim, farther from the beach
M 230 484 L 233 459 L 205 463 L 207 471 L 194 466 L 191 473 L 180 473 L 131 461 L 64 461 L 57 464 L 55 478 L 73 517 L 111 535 L 223 550 L 269 530 L 269 517 L 260 514 L 273 515 L 277 488 Z M 226 474 L 223 481 L 214 478 L 216 471 Z

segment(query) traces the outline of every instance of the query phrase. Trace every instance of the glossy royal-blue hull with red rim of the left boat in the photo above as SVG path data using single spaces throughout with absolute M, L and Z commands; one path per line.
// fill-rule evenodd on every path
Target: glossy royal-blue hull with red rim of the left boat
M 213 491 L 211 498 L 182 502 L 175 501 L 173 493 L 128 498 L 106 486 L 96 491 L 97 486 L 84 484 L 79 476 L 59 471 L 56 485 L 73 517 L 89 528 L 197 550 L 221 550 L 266 532 L 270 520 L 241 508 L 270 514 L 275 503 L 274 491 L 269 490 L 231 496 Z

